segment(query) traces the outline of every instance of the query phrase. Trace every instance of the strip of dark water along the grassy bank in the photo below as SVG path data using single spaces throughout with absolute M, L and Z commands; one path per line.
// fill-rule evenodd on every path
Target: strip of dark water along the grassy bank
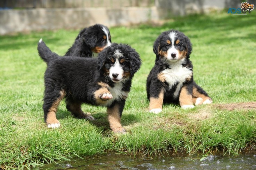
M 209 155 L 204 159 L 201 154 L 175 155 L 165 157 L 130 157 L 120 154 L 97 155 L 88 159 L 76 159 L 47 164 L 39 169 L 107 169 L 107 170 L 153 170 L 153 169 L 256 169 L 256 152 L 240 155 Z M 201 160 L 200 160 L 201 159 Z

